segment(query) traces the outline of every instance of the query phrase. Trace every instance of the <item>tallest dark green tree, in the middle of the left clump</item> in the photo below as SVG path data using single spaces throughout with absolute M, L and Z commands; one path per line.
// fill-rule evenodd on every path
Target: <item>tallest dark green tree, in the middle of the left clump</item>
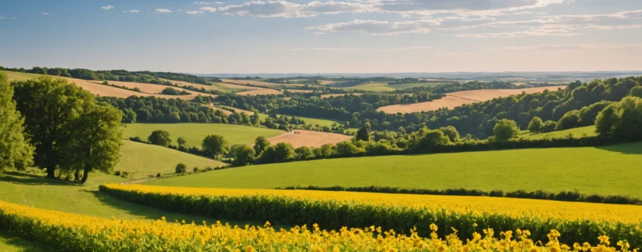
M 89 92 L 67 80 L 38 78 L 14 85 L 16 107 L 25 116 L 27 134 L 36 147 L 34 163 L 47 169 L 48 178 L 64 167 L 74 134 L 74 120 L 84 116 L 95 103 Z

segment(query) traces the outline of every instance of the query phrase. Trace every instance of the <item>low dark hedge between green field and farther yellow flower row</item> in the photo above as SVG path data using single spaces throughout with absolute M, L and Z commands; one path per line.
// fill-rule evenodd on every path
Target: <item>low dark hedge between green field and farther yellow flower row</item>
M 584 195 L 577 191 L 575 192 L 560 192 L 550 193 L 543 190 L 536 190 L 527 192 L 526 190 L 516 190 L 512 192 L 504 192 L 503 190 L 475 190 L 475 189 L 446 189 L 446 190 L 430 190 L 430 189 L 406 189 L 395 188 L 387 186 L 363 186 L 363 187 L 343 187 L 343 186 L 288 186 L 285 188 L 275 188 L 277 190 L 322 190 L 322 191 L 345 191 L 345 192 L 360 192 L 360 193 L 394 193 L 394 194 L 415 194 L 415 195 L 453 195 L 453 196 L 486 196 L 486 197 L 509 197 L 518 199 L 533 199 L 533 200 L 556 200 L 565 202 L 590 202 L 590 203 L 605 203 L 605 204 L 633 204 L 642 205 L 642 200 L 636 197 L 629 196 L 615 196 L 615 195 Z

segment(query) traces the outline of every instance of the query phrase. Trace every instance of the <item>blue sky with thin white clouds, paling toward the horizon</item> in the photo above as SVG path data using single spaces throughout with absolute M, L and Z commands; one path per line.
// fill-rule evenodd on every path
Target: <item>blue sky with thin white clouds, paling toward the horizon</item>
M 641 0 L 1 0 L 0 66 L 642 70 Z

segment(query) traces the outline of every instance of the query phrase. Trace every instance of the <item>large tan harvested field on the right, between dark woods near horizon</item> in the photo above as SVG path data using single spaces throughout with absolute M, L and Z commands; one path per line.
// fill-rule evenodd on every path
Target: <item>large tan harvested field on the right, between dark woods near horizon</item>
M 558 87 L 532 87 L 511 90 L 467 90 L 446 94 L 446 97 L 434 100 L 432 102 L 382 106 L 377 109 L 377 111 L 384 111 L 385 113 L 413 113 L 422 111 L 434 111 L 441 108 L 453 109 L 464 104 L 486 102 L 488 100 L 499 97 L 521 94 L 522 92 L 533 94 L 536 92 L 543 92 L 544 90 L 557 90 L 557 88 Z

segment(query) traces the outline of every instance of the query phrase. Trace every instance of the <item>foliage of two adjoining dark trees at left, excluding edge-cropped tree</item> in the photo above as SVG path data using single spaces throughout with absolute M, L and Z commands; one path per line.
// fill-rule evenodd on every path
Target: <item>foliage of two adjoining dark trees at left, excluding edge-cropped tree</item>
M 67 174 L 75 171 L 79 179 L 80 169 L 91 172 L 96 166 L 109 171 L 115 165 L 120 141 L 119 122 L 113 120 L 121 119 L 120 111 L 99 104 L 91 93 L 67 80 L 43 77 L 13 85 L 16 108 L 25 116 L 25 131 L 36 147 L 35 165 L 45 167 L 49 178 L 59 168 Z

